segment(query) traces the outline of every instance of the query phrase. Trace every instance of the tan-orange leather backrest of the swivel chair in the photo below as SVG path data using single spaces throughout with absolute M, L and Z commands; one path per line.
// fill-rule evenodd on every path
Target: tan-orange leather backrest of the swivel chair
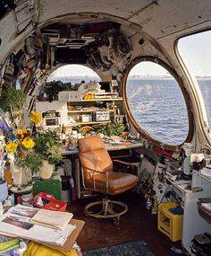
M 112 172 L 113 163 L 105 149 L 102 137 L 84 137 L 78 140 L 80 164 L 84 181 L 93 177 L 93 172 Z M 95 174 L 97 175 L 97 174 Z M 100 174 L 99 174 L 100 175 Z

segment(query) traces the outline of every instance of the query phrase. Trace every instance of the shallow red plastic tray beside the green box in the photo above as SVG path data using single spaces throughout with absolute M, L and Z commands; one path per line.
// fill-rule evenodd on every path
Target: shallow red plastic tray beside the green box
M 44 203 L 43 206 L 38 205 L 38 197 L 40 197 Z M 38 207 L 42 209 L 47 209 L 47 210 L 53 210 L 53 211 L 60 211 L 63 212 L 65 211 L 67 207 L 67 203 L 64 203 L 63 201 L 59 201 L 55 199 L 55 197 L 51 194 L 40 192 L 38 193 L 37 196 L 33 197 L 31 199 L 31 203 L 33 207 Z

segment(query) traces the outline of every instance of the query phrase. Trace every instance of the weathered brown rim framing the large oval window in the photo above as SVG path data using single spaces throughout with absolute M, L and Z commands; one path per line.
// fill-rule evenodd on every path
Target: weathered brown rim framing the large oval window
M 173 75 L 173 78 L 176 80 L 177 84 L 181 88 L 181 93 L 183 95 L 183 98 L 184 98 L 184 101 L 186 104 L 189 128 L 188 128 L 187 137 L 180 145 L 167 144 L 166 142 L 163 142 L 163 141 L 157 139 L 156 137 L 153 137 L 152 135 L 150 135 L 148 133 L 148 131 L 146 131 L 145 129 L 143 129 L 139 126 L 136 119 L 133 117 L 133 115 L 131 113 L 131 109 L 130 109 L 129 103 L 127 101 L 127 93 L 126 93 L 128 75 L 134 66 L 138 65 L 140 62 L 143 62 L 143 61 L 149 61 L 152 63 L 156 63 L 160 66 L 163 66 L 171 75 Z M 143 57 L 136 57 L 131 61 L 130 65 L 127 66 L 127 68 L 124 70 L 124 74 L 123 74 L 123 78 L 122 78 L 122 98 L 123 98 L 124 108 L 126 110 L 128 118 L 131 121 L 131 124 L 139 132 L 140 136 L 143 137 L 144 139 L 148 140 L 148 142 L 153 143 L 156 146 L 162 145 L 166 150 L 175 150 L 178 146 L 182 146 L 185 142 L 188 143 L 191 141 L 191 139 L 193 137 L 193 131 L 194 131 L 194 118 L 193 118 L 193 113 L 191 111 L 190 97 L 182 84 L 180 76 L 176 74 L 176 72 L 173 70 L 173 68 L 171 66 L 168 66 L 160 58 L 152 57 L 152 56 L 143 56 Z

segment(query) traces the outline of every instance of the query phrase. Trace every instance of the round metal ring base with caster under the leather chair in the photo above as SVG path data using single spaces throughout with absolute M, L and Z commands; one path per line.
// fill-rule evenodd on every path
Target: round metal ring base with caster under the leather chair
M 93 212 L 91 210 L 91 207 L 100 206 L 100 205 L 102 205 L 102 207 L 99 212 Z M 113 209 L 115 205 L 118 207 L 122 207 L 122 211 L 115 212 Z M 85 210 L 85 214 L 87 216 L 93 216 L 93 217 L 97 217 L 97 218 L 114 218 L 114 224 L 118 224 L 120 216 L 122 216 L 123 214 L 125 214 L 127 212 L 128 206 L 119 201 L 103 199 L 102 201 L 97 201 L 97 202 L 88 204 L 84 208 L 84 210 Z

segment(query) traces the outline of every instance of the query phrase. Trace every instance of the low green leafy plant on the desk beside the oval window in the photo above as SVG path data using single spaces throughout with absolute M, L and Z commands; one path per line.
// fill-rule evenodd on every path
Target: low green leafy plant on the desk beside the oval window
M 102 126 L 100 128 L 97 128 L 98 133 L 104 134 L 106 137 L 112 137 L 112 136 L 120 136 L 122 134 L 122 131 L 124 131 L 126 126 L 122 123 L 108 123 L 105 126 Z

